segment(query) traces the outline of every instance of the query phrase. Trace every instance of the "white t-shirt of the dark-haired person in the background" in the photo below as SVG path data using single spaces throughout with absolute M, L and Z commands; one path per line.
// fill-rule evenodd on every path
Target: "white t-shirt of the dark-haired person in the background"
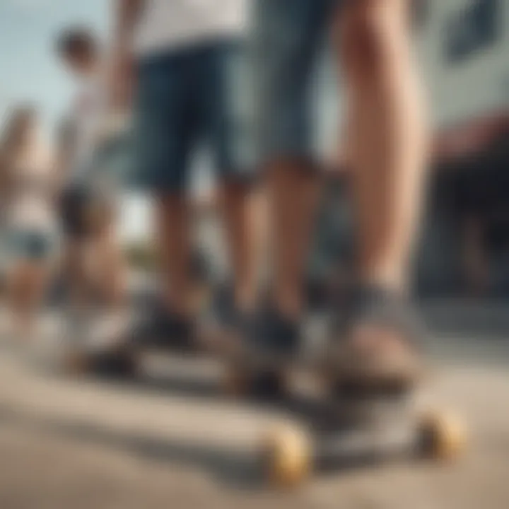
M 71 181 L 86 178 L 105 115 L 105 87 L 101 74 L 81 83 L 71 105 L 69 122 L 74 135 L 74 156 L 69 168 Z

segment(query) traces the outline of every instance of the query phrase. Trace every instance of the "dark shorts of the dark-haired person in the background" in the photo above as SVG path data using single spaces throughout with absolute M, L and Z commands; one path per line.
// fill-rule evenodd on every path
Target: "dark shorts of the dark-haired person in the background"
M 65 238 L 83 240 L 93 235 L 97 226 L 110 221 L 112 203 L 85 185 L 69 187 L 60 199 L 60 217 Z

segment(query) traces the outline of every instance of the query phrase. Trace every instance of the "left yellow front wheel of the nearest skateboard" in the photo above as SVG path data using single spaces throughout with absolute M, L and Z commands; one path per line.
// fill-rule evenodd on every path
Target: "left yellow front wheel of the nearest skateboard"
M 271 431 L 261 447 L 264 476 L 278 488 L 298 486 L 310 474 L 311 452 L 305 431 L 291 426 Z

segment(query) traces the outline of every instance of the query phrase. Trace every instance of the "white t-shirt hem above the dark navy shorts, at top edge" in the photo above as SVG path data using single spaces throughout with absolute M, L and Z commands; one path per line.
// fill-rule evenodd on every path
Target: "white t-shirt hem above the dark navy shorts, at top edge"
M 139 57 L 245 31 L 247 0 L 146 0 L 136 30 Z

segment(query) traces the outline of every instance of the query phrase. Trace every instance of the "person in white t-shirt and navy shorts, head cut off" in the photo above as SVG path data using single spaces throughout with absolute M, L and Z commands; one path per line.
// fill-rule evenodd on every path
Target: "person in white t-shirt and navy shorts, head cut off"
M 156 211 L 160 305 L 140 334 L 172 346 L 197 341 L 191 275 L 189 172 L 202 144 L 218 177 L 233 275 L 232 323 L 254 306 L 256 235 L 238 73 L 245 0 L 118 0 L 112 42 L 113 107 L 133 96 L 136 169 Z M 242 140 L 244 138 L 244 140 Z

